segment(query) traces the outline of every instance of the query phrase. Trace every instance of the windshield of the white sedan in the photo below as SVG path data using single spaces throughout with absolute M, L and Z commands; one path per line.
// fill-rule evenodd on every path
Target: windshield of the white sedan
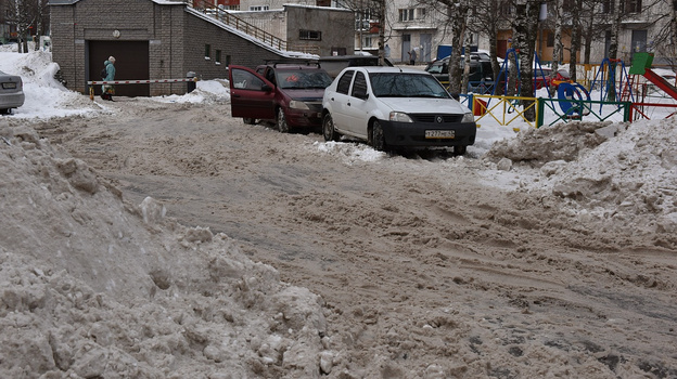
M 369 79 L 376 97 L 449 97 L 437 79 L 427 74 L 372 73 Z

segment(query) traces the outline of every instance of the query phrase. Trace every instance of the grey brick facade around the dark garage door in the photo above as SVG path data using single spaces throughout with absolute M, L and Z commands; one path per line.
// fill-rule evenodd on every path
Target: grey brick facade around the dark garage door
M 182 2 L 152 0 L 51 0 L 52 58 L 66 87 L 87 93 L 91 43 L 148 41 L 148 76 L 178 79 L 193 71 L 202 79 L 228 77 L 228 64 L 255 67 L 284 53 L 232 31 Z M 209 45 L 209 57 L 205 45 Z M 221 62 L 216 61 L 220 51 Z M 119 61 L 119 58 L 118 58 Z M 145 67 L 144 67 L 145 68 Z M 141 79 L 116 77 L 117 80 Z M 188 84 L 150 84 L 150 95 L 182 94 Z

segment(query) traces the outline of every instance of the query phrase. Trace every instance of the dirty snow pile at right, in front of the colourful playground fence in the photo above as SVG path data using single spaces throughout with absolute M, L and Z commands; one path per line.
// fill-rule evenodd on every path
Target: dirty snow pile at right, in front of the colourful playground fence
M 677 247 L 677 120 L 570 122 L 494 144 L 486 159 L 598 221 L 602 231 L 656 234 Z

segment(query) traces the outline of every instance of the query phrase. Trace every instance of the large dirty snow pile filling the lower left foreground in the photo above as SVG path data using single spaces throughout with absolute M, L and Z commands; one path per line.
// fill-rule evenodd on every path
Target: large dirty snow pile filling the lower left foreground
M 319 377 L 321 299 L 0 120 L 0 377 Z

